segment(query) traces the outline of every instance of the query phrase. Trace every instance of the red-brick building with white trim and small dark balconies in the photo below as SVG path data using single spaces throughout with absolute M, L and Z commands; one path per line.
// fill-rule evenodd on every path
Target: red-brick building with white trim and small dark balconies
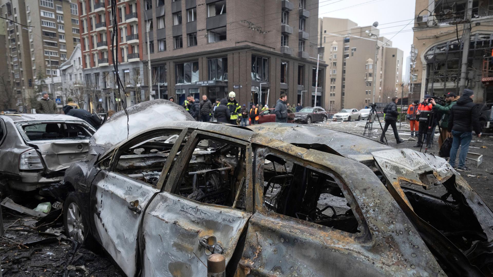
M 126 98 L 126 104 L 144 101 L 142 37 L 139 34 L 141 1 L 118 0 L 114 15 L 109 0 L 82 0 L 79 9 L 84 85 L 91 106 L 103 110 L 118 110 L 120 106 L 111 52 L 113 16 L 118 22 L 115 54 L 119 76 L 130 96 Z

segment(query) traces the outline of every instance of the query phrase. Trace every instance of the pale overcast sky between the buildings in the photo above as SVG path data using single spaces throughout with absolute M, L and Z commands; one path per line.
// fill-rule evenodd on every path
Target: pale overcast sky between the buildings
M 413 32 L 409 30 L 412 30 L 414 22 L 409 22 L 414 18 L 415 0 L 318 1 L 318 17 L 347 18 L 356 22 L 358 26 L 368 26 L 372 25 L 373 22 L 378 21 L 379 26 L 377 28 L 380 29 L 380 34 L 384 35 L 387 39 L 404 28 L 401 33 L 395 35 L 391 40 L 393 47 L 397 47 L 404 51 L 404 62 L 406 62 L 405 59 L 409 56 L 411 44 L 413 43 Z M 409 25 L 404 27 L 404 25 L 408 23 Z

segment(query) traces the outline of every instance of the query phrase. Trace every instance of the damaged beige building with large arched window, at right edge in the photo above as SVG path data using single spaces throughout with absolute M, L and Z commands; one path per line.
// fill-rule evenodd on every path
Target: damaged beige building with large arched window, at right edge
M 475 102 L 493 101 L 491 81 L 482 82 L 483 62 L 492 56 L 493 2 L 473 0 L 472 19 L 464 24 L 466 10 L 467 0 L 416 0 L 413 46 L 417 56 L 414 68 L 409 69 L 416 99 L 424 94 L 459 93 L 462 35 L 464 28 L 471 28 L 466 88 L 475 92 Z M 485 73 L 491 77 L 491 70 Z

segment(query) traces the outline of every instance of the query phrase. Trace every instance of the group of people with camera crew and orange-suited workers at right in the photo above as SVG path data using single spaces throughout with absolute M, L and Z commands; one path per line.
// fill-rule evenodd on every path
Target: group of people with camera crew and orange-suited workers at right
M 472 140 L 472 131 L 481 138 L 481 122 L 479 121 L 479 107 L 473 103 L 474 92 L 464 89 L 461 96 L 453 92 L 444 95 L 445 103 L 439 104 L 435 97 L 426 94 L 423 102 L 414 101 L 408 106 L 406 118 L 410 122 L 411 137 L 417 137 L 414 147 L 431 147 L 436 128 L 439 127 L 438 149 L 446 139 L 452 140 L 449 163 L 458 171 L 470 172 L 465 166 L 469 143 Z M 392 102 L 384 108 L 385 128 L 380 141 L 383 141 L 388 125 L 392 126 L 397 143 L 404 140 L 399 138 L 396 121 L 399 115 L 397 111 L 398 98 L 392 98 Z M 456 167 L 457 152 L 460 148 L 459 163 Z M 444 149 L 445 150 L 445 149 Z M 448 149 L 447 149 L 448 150 Z M 444 154 L 447 156 L 447 153 Z

